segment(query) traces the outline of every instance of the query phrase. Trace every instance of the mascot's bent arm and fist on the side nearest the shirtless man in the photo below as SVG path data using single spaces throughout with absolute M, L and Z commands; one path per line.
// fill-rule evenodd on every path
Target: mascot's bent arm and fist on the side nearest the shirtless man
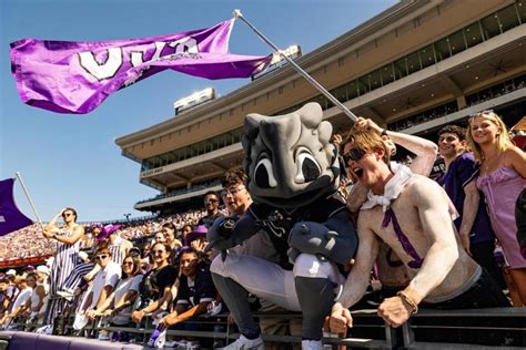
M 296 223 L 289 236 L 291 254 L 317 254 L 337 264 L 348 264 L 357 247 L 356 231 L 346 210 L 331 216 L 326 223 Z M 295 259 L 295 256 L 291 256 Z

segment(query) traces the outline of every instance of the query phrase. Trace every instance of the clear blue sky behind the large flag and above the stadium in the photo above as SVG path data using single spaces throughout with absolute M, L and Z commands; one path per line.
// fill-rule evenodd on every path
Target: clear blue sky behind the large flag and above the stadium
M 108 97 L 84 115 L 55 114 L 24 105 L 14 86 L 9 43 L 22 38 L 101 41 L 144 38 L 211 27 L 241 9 L 277 47 L 300 44 L 303 53 L 382 12 L 393 0 L 2 0 L 0 1 L 0 178 L 21 172 L 37 209 L 49 220 L 65 206 L 80 220 L 120 219 L 144 213 L 138 200 L 156 192 L 139 184 L 140 165 L 121 156 L 117 137 L 165 121 L 172 104 L 212 86 L 229 92 L 249 80 L 209 81 L 162 72 Z M 271 49 L 237 21 L 230 51 L 264 55 Z M 16 199 L 30 217 L 16 185 Z

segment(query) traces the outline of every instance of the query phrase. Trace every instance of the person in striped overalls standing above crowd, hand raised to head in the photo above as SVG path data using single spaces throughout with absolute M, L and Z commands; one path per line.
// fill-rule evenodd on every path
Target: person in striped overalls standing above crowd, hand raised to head
M 65 223 L 62 228 L 57 227 L 59 217 L 62 217 Z M 80 240 L 84 236 L 84 227 L 77 224 L 77 212 L 73 208 L 64 208 L 49 222 L 43 231 L 45 238 L 57 240 L 57 250 L 50 276 L 48 325 L 52 325 L 57 315 L 62 312 L 65 307 L 64 299 L 57 298 L 57 291 L 62 289 L 65 279 L 77 265 Z

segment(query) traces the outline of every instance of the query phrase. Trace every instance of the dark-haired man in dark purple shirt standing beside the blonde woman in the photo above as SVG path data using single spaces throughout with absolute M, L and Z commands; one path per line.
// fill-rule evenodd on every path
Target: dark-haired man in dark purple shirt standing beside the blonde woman
M 495 234 L 490 227 L 484 200 L 476 186 L 478 166 L 466 152 L 466 130 L 447 125 L 438 132 L 438 150 L 446 173 L 437 178 L 461 216 L 454 223 L 464 249 L 484 267 L 493 279 L 505 287 L 503 274 L 495 265 Z

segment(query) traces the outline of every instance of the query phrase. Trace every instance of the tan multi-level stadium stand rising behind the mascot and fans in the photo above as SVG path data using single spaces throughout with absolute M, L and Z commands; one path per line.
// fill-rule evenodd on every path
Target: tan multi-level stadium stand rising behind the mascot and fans
M 526 114 L 526 0 L 402 1 L 295 62 L 356 115 L 436 141 L 437 130 L 495 110 L 507 125 Z M 348 119 L 291 66 L 253 80 L 151 127 L 119 137 L 159 196 L 139 210 L 201 205 L 243 158 L 249 113 L 322 105 L 334 131 Z M 169 101 L 166 102 L 169 103 Z

